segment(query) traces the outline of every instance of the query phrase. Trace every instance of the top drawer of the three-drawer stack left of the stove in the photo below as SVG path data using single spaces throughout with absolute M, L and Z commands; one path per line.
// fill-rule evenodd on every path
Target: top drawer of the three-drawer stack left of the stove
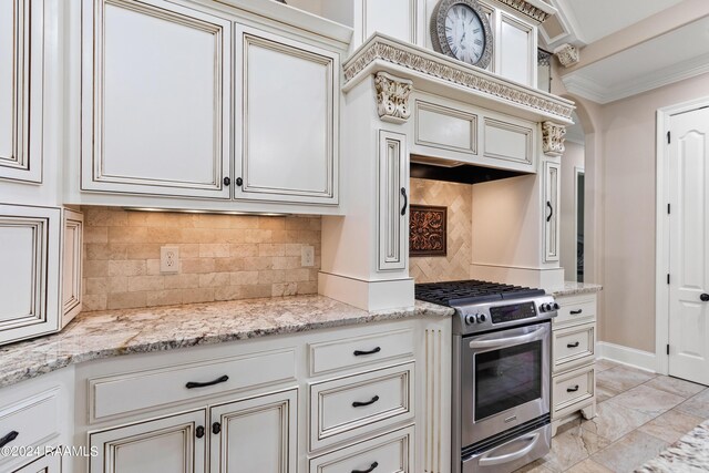
M 310 376 L 412 356 L 411 329 L 312 343 Z

